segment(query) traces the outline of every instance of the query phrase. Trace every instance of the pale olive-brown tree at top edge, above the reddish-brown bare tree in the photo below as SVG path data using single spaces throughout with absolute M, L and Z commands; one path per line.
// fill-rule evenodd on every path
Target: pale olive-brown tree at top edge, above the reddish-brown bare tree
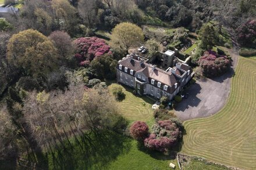
M 52 0 L 51 6 L 56 26 L 60 30 L 74 34 L 77 26 L 76 8 L 67 0 Z

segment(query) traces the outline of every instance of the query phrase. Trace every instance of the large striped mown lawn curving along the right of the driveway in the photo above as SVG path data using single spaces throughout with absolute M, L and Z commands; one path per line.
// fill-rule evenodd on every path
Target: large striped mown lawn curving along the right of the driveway
M 256 169 L 256 60 L 240 57 L 226 106 L 209 118 L 184 122 L 182 153 Z

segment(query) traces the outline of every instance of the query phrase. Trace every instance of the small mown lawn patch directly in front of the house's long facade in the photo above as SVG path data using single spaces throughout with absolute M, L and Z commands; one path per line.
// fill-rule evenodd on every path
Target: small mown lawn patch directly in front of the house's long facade
M 120 86 L 118 84 L 111 84 L 109 88 L 113 86 Z M 147 96 L 135 96 L 133 95 L 133 89 L 122 86 L 123 92 L 126 94 L 125 100 L 118 102 L 120 108 L 120 114 L 126 117 L 130 121 L 150 121 L 153 118 L 152 104 L 155 103 Z

